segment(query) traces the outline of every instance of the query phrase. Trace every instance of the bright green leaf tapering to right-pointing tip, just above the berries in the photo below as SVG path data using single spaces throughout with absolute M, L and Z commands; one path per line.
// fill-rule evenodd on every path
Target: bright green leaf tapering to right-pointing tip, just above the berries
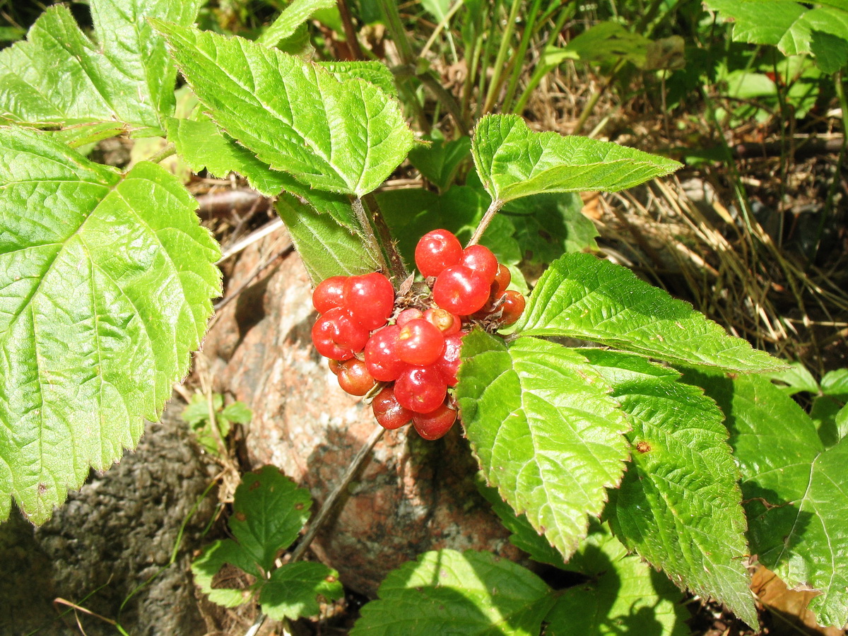
M 471 153 L 486 190 L 501 202 L 538 192 L 616 192 L 680 167 L 672 159 L 616 143 L 533 132 L 511 114 L 483 117 Z

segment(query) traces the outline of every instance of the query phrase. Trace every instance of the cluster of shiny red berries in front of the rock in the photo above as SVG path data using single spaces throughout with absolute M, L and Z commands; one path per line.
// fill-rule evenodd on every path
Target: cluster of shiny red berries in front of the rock
M 320 314 L 312 340 L 347 393 L 379 388 L 371 407 L 382 427 L 412 421 L 422 438 L 438 439 L 456 421 L 448 389 L 456 386 L 463 321 L 509 325 L 524 297 L 506 289 L 510 272 L 488 248 L 463 249 L 446 230 L 421 238 L 416 265 L 432 298 L 400 298 L 397 306 L 392 283 L 379 273 L 321 282 L 312 294 Z

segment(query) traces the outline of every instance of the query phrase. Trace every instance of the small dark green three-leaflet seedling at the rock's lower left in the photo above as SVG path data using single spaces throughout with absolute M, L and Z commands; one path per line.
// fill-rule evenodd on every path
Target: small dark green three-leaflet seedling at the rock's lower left
M 195 581 L 209 600 L 235 607 L 259 592 L 262 611 L 277 620 L 318 613 L 316 596 L 327 600 L 343 595 L 338 573 L 321 563 L 287 563 L 275 569 L 280 550 L 298 538 L 309 519 L 312 500 L 304 488 L 275 466 L 248 472 L 236 488 L 233 514 L 228 523 L 233 538 L 215 541 L 192 563 Z M 256 577 L 247 589 L 213 585 L 226 563 Z M 266 578 L 264 574 L 271 573 Z

